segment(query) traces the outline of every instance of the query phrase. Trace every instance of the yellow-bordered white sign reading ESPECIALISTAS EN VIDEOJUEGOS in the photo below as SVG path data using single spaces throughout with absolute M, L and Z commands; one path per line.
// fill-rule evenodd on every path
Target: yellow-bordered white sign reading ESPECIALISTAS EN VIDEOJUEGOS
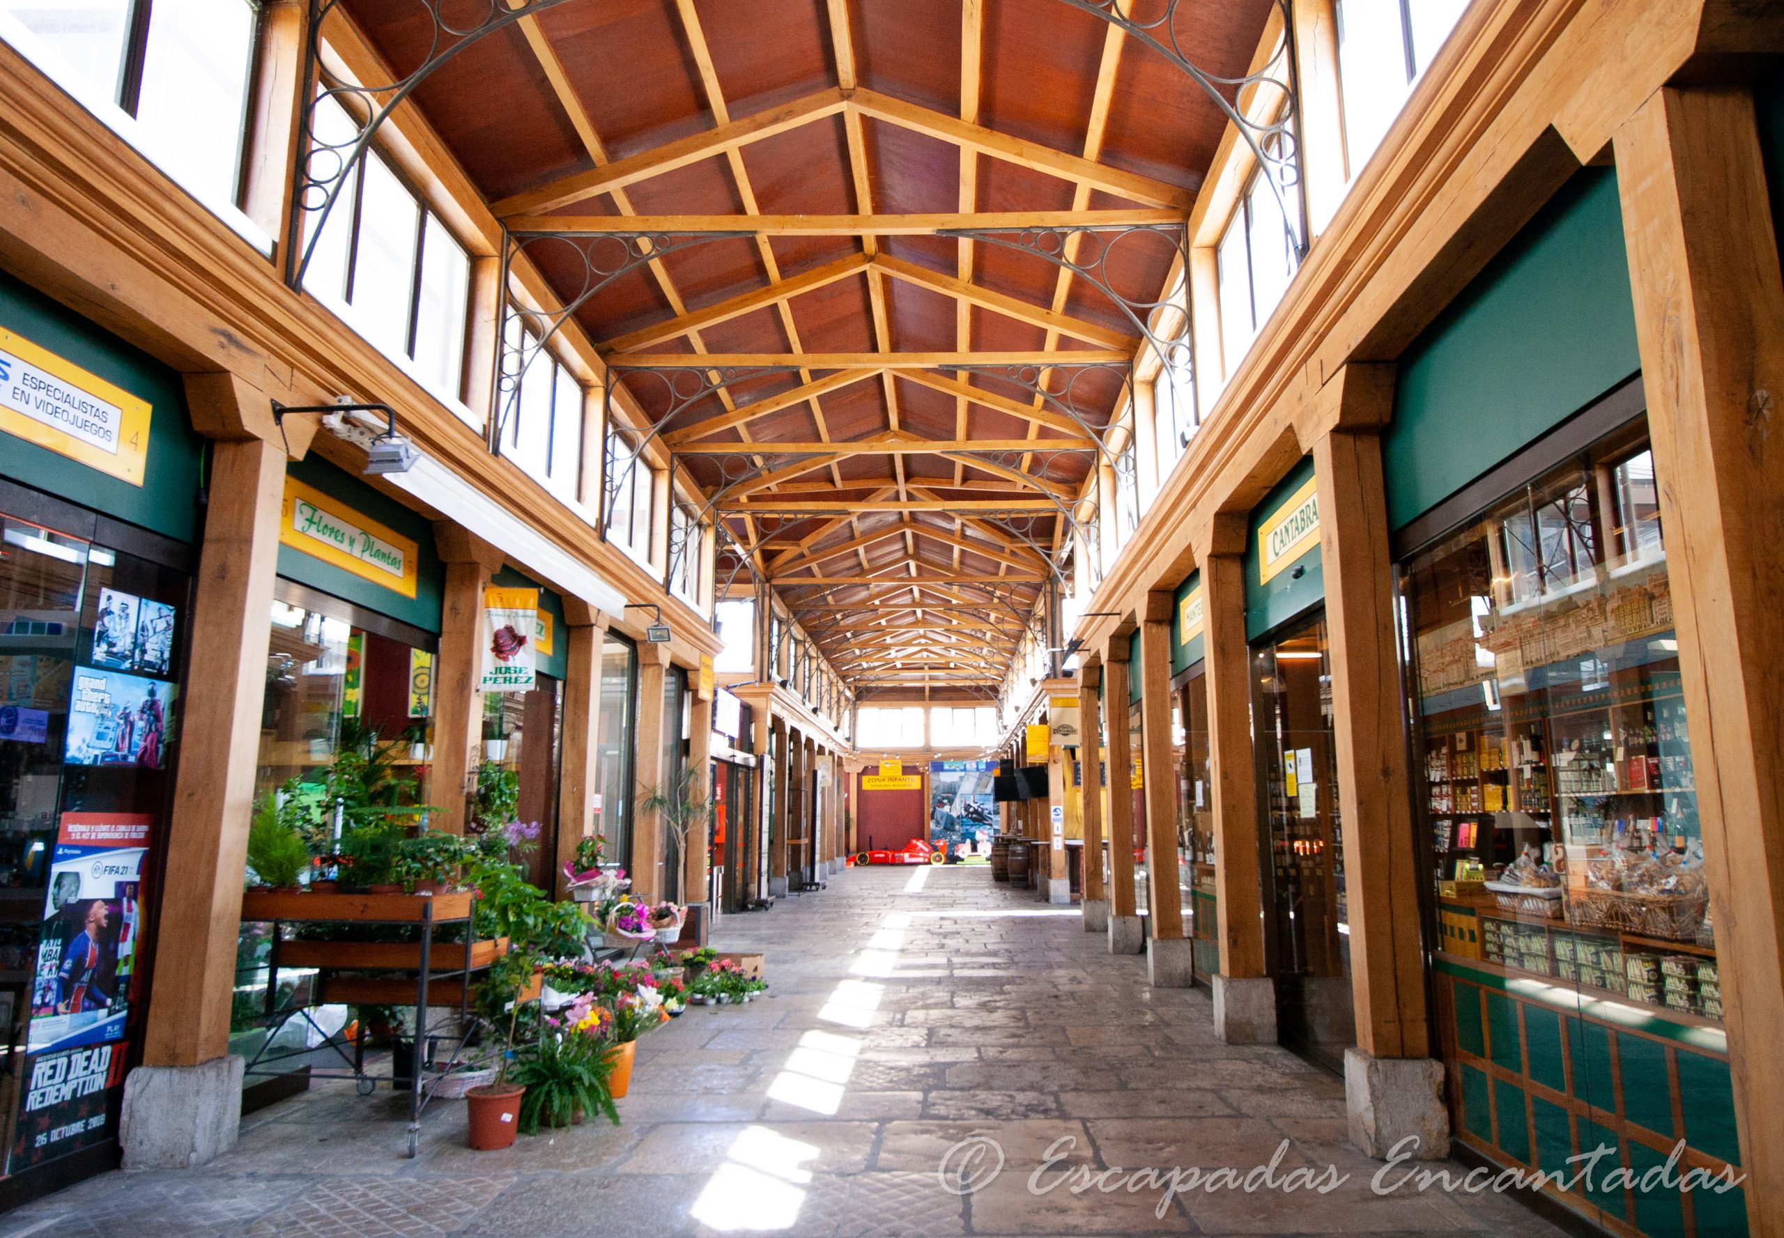
M 152 407 L 0 328 L 0 430 L 143 485 Z

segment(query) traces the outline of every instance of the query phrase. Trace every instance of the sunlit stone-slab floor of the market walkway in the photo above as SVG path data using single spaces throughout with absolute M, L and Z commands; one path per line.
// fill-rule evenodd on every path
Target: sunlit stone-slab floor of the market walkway
M 1345 1142 L 1338 1079 L 1220 1044 L 1206 995 L 1151 990 L 1144 960 L 1111 958 L 1074 910 L 987 869 L 849 871 L 721 920 L 715 944 L 765 951 L 774 997 L 651 1033 L 621 1127 L 471 1152 L 464 1102 L 437 1102 L 409 1160 L 401 1102 L 332 1083 L 244 1118 L 203 1168 L 105 1174 L 0 1218 L 0 1234 L 1561 1233 L 1507 1197 L 1374 1193 L 1379 1165 Z M 995 1151 L 960 1147 L 987 1138 Z M 944 1158 L 956 1184 L 962 1168 L 987 1181 L 944 1188 Z M 1074 1167 L 1243 1176 L 1272 1158 L 1279 1179 L 1349 1179 L 1329 1193 L 1188 1186 L 1163 1206 L 1151 1179 L 1060 1183 Z M 1053 1188 L 1037 1192 L 1044 1161 Z

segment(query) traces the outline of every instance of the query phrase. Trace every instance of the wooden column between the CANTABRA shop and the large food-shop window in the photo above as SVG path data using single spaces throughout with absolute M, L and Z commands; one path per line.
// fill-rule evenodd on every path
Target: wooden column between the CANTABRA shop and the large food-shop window
M 1367 389 L 1379 407 L 1347 407 L 1345 419 L 1365 419 L 1370 412 L 1386 419 L 1390 384 L 1347 387 Z M 1413 849 L 1381 439 L 1368 430 L 1320 435 L 1313 444 L 1313 469 L 1331 640 L 1333 747 L 1343 822 L 1356 1045 L 1374 1058 L 1425 1058 L 1431 1028 L 1418 897 L 1429 874 Z

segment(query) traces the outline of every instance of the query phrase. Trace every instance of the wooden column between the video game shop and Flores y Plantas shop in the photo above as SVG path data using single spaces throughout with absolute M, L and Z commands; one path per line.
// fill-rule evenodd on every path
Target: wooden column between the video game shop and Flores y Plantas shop
M 262 439 L 218 442 L 198 555 L 155 1001 L 143 1061 L 194 1067 L 228 1052 L 241 881 L 260 751 L 266 655 L 285 455 Z

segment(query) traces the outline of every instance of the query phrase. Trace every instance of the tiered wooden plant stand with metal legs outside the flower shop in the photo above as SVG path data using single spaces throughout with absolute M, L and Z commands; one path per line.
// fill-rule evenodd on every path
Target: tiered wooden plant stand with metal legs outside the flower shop
M 409 1085 L 409 1156 L 414 1156 L 421 1138 L 421 1113 L 434 1099 L 441 1081 L 448 1076 L 467 1070 L 458 1060 L 464 1042 L 469 1036 L 471 1019 L 471 983 L 473 976 L 501 958 L 507 938 L 476 940 L 473 922 L 475 892 L 455 894 L 307 894 L 307 892 L 271 892 L 250 890 L 241 901 L 243 920 L 269 922 L 273 928 L 271 954 L 268 958 L 266 1011 L 268 1036 L 260 1049 L 246 1065 L 248 1076 L 289 1076 L 303 1069 L 312 1079 L 353 1079 L 360 1095 L 369 1095 L 380 1077 L 392 1086 Z M 391 926 L 401 924 L 416 929 L 410 942 L 359 942 L 359 940 L 284 940 L 284 926 Z M 435 933 L 442 926 L 462 924 L 462 942 L 435 942 Z M 316 986 L 312 1003 L 344 1004 L 391 1004 L 416 1008 L 416 1028 L 410 1074 L 398 1074 L 400 1067 L 392 1054 L 391 1072 L 375 1076 L 366 1070 L 366 1036 L 353 1038 L 343 1031 L 328 1031 L 314 1019 L 314 1004 L 301 1003 L 278 1006 L 278 972 L 312 970 Z M 368 974 L 373 972 L 373 974 Z M 384 972 L 384 974 L 378 974 Z M 523 1001 L 539 997 L 539 979 Z M 425 1063 L 428 1045 L 428 1011 L 458 1010 L 458 1036 L 446 1065 L 430 1069 Z M 314 1033 L 319 1044 L 305 1044 L 301 1049 L 278 1045 L 278 1033 L 293 1020 L 305 1024 L 305 1040 Z M 339 1069 L 318 1070 L 309 1060 L 318 1052 L 332 1052 L 341 1060 Z M 293 1058 L 303 1058 L 305 1067 L 289 1067 Z

